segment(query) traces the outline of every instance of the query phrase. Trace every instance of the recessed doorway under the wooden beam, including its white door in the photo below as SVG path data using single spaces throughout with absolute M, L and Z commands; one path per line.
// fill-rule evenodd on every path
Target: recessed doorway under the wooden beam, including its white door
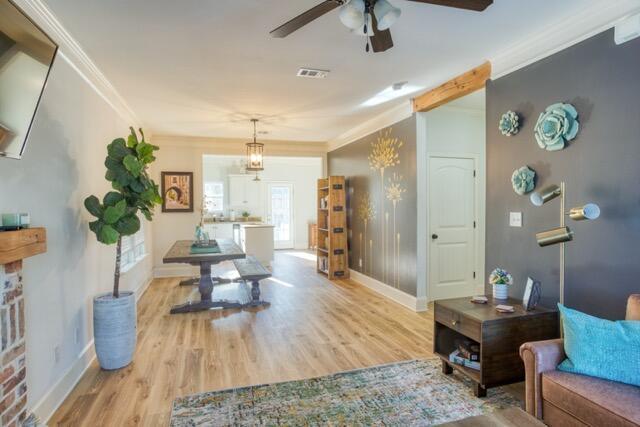
M 418 113 L 418 297 L 484 294 L 485 91 Z

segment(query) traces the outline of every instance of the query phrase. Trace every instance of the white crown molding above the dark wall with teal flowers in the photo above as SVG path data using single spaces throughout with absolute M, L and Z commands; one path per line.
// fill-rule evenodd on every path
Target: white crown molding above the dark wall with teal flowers
M 500 78 L 580 43 L 638 11 L 637 0 L 591 0 L 571 18 L 549 25 L 490 58 L 491 78 Z

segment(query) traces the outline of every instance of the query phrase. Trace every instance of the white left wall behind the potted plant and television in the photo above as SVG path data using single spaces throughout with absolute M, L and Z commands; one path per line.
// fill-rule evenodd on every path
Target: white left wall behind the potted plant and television
M 94 355 L 92 299 L 112 287 L 115 247 L 89 232 L 83 200 L 109 190 L 106 145 L 128 126 L 58 56 L 23 159 L 0 158 L 0 212 L 28 212 L 33 225 L 47 228 L 47 253 L 27 259 L 23 273 L 28 406 L 43 420 Z M 147 257 L 123 275 L 122 287 L 141 291 L 150 277 Z

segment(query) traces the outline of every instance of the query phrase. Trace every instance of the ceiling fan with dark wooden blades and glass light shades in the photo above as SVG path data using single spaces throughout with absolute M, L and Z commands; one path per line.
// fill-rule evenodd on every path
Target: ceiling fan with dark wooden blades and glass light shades
M 489 7 L 493 0 L 409 0 L 418 3 L 435 4 L 481 12 Z M 354 34 L 366 36 L 374 52 L 384 52 L 393 47 L 389 28 L 400 16 L 400 9 L 387 0 L 325 0 L 319 5 L 296 16 L 289 22 L 271 31 L 273 37 L 283 38 L 308 23 L 318 19 L 333 9 L 341 7 L 340 20 Z

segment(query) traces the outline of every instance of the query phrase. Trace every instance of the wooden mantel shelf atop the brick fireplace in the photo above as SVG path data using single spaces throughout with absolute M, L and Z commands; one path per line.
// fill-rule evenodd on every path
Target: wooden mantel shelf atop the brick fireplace
M 47 230 L 26 228 L 0 232 L 0 265 L 20 261 L 47 251 Z

